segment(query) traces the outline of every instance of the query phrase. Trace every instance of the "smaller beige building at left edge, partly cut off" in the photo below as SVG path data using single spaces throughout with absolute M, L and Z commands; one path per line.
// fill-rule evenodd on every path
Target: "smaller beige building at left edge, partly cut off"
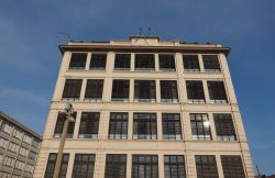
M 0 112 L 0 177 L 32 178 L 42 136 Z

